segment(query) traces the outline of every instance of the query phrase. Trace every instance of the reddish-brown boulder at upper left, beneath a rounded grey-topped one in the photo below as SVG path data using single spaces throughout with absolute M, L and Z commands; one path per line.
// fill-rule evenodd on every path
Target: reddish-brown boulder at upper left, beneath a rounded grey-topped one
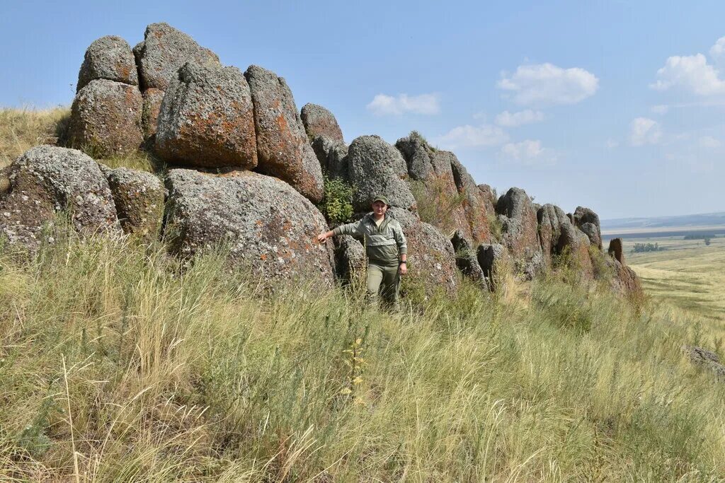
M 68 125 L 71 146 L 90 149 L 99 156 L 136 151 L 144 140 L 143 105 L 134 85 L 91 80 L 73 100 Z

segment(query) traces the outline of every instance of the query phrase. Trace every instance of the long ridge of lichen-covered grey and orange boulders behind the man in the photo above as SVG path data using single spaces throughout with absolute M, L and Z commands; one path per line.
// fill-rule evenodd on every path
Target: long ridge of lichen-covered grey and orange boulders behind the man
M 67 139 L 94 156 L 151 151 L 167 163 L 159 173 L 165 187 L 154 175 L 108 169 L 81 151 L 33 148 L 0 173 L 0 230 L 12 243 L 35 249 L 51 242 L 46 227 L 68 211 L 78 232 L 159 238 L 182 257 L 224 245 L 231 263 L 265 287 L 352 281 L 364 270 L 363 246 L 346 237 L 333 249 L 314 239 L 328 228 L 314 204 L 326 175 L 355 187 L 355 217 L 374 195 L 389 198 L 408 238 L 410 277 L 426 290 L 455 293 L 461 275 L 495 290 L 497 270 L 513 267 L 531 280 L 564 259 L 583 282 L 610 277 L 622 293 L 642 290 L 614 240 L 604 257 L 608 272 L 597 263 L 595 211 L 536 206 L 521 188 L 496 198 L 455 154 L 415 132 L 394 146 L 376 135 L 347 145 L 328 109 L 305 104 L 298 112 L 283 77 L 224 66 L 165 23 L 149 25 L 133 50 L 112 35 L 91 43 Z M 442 206 L 436 226 L 421 219 L 422 203 Z

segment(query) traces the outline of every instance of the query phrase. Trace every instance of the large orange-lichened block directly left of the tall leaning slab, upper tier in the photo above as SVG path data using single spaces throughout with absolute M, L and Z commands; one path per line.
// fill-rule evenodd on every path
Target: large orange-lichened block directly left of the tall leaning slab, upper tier
M 256 147 L 252 96 L 241 71 L 184 64 L 161 103 L 157 154 L 188 166 L 252 169 Z

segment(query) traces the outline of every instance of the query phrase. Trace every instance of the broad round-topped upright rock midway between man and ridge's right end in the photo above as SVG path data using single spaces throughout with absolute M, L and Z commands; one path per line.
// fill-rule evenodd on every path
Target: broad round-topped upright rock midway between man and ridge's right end
M 499 198 L 496 212 L 502 225 L 502 242 L 508 248 L 515 268 L 529 278 L 532 270 L 545 266 L 537 214 L 531 199 L 521 188 L 511 188 Z

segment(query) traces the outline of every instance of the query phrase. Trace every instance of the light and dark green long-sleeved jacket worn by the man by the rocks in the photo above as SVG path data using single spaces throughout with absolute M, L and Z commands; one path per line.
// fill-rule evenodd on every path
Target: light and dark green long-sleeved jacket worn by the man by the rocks
M 373 214 L 368 213 L 359 221 L 341 224 L 332 232 L 336 236 L 352 235 L 355 238 L 363 238 L 370 263 L 397 265 L 400 256 L 407 253 L 403 229 L 398 220 L 389 214 L 385 215 L 380 227 L 375 224 Z

